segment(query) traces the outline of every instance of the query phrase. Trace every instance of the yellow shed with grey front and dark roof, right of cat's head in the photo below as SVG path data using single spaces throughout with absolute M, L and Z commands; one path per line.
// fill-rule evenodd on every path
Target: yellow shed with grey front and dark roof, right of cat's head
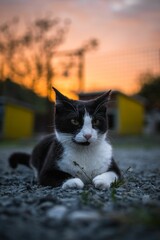
M 96 98 L 104 92 L 82 93 L 81 100 Z M 144 127 L 144 105 L 133 97 L 113 91 L 108 104 L 109 129 L 121 135 L 141 134 Z

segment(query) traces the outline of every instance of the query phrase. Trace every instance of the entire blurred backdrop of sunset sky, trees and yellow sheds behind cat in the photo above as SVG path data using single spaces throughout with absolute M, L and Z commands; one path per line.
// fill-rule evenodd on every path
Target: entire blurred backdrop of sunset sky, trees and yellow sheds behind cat
M 55 86 L 112 89 L 109 128 L 160 133 L 159 0 L 0 0 L 0 139 L 53 131 Z

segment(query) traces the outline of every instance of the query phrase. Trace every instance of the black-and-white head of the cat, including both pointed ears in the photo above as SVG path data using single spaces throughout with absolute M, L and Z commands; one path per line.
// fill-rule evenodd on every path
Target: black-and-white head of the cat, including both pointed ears
M 107 102 L 110 92 L 89 100 L 71 100 L 56 93 L 55 130 L 60 142 L 88 146 L 106 137 Z

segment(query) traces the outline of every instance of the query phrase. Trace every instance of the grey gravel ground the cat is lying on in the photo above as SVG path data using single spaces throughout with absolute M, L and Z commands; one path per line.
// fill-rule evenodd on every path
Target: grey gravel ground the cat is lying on
M 0 239 L 160 239 L 158 145 L 116 147 L 124 182 L 106 191 L 38 186 L 29 169 L 9 169 L 15 150 L 31 148 L 0 147 Z

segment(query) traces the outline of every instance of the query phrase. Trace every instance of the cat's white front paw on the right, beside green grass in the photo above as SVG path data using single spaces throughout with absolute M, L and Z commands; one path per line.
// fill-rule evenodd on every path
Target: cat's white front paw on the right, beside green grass
M 118 177 L 114 172 L 105 172 L 93 178 L 93 184 L 95 188 L 105 190 L 117 179 Z

